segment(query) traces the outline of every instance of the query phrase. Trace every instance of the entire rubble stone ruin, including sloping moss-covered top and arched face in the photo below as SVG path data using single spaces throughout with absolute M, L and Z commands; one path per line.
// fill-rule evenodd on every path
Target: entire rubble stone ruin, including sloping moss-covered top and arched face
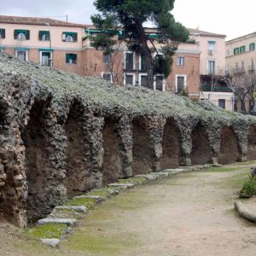
M 256 119 L 0 53 L 0 204 L 19 226 L 103 183 L 255 159 Z

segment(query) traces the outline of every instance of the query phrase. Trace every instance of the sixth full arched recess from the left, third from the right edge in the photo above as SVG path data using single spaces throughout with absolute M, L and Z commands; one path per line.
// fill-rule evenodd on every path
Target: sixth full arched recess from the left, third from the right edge
M 211 162 L 212 154 L 207 131 L 201 123 L 192 131 L 192 150 L 190 159 L 192 165 L 205 165 Z

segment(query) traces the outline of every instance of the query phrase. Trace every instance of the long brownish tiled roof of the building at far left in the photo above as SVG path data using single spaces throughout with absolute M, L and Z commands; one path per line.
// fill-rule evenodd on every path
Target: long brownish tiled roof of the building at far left
M 49 26 L 75 26 L 75 27 L 87 27 L 89 25 L 70 23 L 61 20 L 53 20 L 49 18 L 38 18 L 38 17 L 18 17 L 18 16 L 5 16 L 0 15 L 0 23 L 9 24 L 26 24 L 26 25 L 45 25 Z

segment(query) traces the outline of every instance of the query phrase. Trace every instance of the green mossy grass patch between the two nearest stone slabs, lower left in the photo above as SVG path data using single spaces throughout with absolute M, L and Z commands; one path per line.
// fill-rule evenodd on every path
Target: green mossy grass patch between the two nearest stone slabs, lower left
M 67 224 L 44 224 L 38 225 L 26 231 L 32 238 L 60 238 L 66 233 Z

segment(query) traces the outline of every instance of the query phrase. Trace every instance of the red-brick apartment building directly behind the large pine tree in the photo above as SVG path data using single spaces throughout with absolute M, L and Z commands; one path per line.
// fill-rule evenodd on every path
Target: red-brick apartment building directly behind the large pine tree
M 86 29 L 84 39 L 84 59 L 88 75 L 102 76 L 114 84 L 131 84 L 147 87 L 147 67 L 143 55 L 131 52 L 127 45 L 121 40 L 115 45 L 114 53 L 103 55 L 101 51 L 90 46 L 90 38 L 94 37 L 97 31 L 93 27 Z M 154 28 L 146 28 L 151 42 L 157 38 L 157 31 Z M 119 31 L 122 34 L 122 31 Z M 117 35 L 118 39 L 119 35 Z M 150 43 L 151 44 L 151 43 Z M 153 57 L 161 55 L 161 46 L 157 40 L 154 41 Z M 153 47 L 152 44 L 149 47 Z M 199 96 L 199 74 L 200 74 L 200 50 L 196 44 L 179 44 L 173 55 L 172 73 L 167 79 L 161 74 L 154 76 L 154 90 L 172 91 L 174 93 L 184 92 L 189 96 Z

